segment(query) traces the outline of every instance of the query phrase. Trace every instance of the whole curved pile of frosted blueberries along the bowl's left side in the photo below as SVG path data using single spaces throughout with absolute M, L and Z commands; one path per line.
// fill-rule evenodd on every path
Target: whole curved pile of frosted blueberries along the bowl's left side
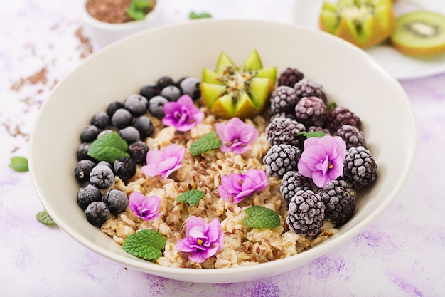
M 92 115 L 90 124 L 80 132 L 74 169 L 80 185 L 77 204 L 90 224 L 100 227 L 110 214 L 119 214 L 127 207 L 127 194 L 113 188 L 114 178 L 128 182 L 134 177 L 137 166 L 146 163 L 149 151 L 146 138 L 154 132 L 151 117 L 163 118 L 164 103 L 176 101 L 181 95 L 189 95 L 193 100 L 200 98 L 199 84 L 200 80 L 193 77 L 175 82 L 163 76 L 156 83 L 144 85 L 139 94 L 129 95 L 123 102 L 114 101 L 107 110 Z M 129 157 L 119 157 L 110 163 L 88 155 L 91 143 L 108 132 L 118 132 L 127 142 Z

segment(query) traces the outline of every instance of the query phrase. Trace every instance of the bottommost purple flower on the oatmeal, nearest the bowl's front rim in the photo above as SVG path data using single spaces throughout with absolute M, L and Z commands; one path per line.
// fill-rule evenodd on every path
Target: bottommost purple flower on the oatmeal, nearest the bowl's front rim
M 218 219 L 208 224 L 200 217 L 189 217 L 186 221 L 186 237 L 176 242 L 176 249 L 188 254 L 188 259 L 197 263 L 215 255 L 223 248 L 223 231 Z

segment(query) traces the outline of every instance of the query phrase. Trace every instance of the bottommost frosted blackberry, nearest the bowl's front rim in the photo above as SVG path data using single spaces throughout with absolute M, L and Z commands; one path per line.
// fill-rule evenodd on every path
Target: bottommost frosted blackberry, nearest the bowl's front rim
M 304 236 L 315 236 L 323 226 L 325 208 L 320 195 L 312 190 L 296 192 L 289 202 L 286 218 L 289 229 Z

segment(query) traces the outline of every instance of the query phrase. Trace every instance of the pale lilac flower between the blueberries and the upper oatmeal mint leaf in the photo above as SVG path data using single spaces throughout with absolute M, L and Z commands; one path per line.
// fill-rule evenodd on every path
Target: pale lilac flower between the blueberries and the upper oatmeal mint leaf
M 151 177 L 161 176 L 166 179 L 175 170 L 182 166 L 186 149 L 173 143 L 163 150 L 149 150 L 146 154 L 146 165 L 141 167 L 144 174 Z

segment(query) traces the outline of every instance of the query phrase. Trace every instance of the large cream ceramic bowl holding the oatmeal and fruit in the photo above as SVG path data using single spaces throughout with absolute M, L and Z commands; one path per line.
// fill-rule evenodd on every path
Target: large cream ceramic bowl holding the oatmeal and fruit
M 156 45 L 156 46 L 154 46 Z M 79 135 L 91 116 L 114 100 L 139 92 L 162 75 L 200 77 L 220 51 L 242 61 L 257 48 L 264 66 L 299 68 L 320 83 L 329 100 L 360 116 L 368 148 L 378 165 L 372 188 L 360 192 L 355 214 L 339 233 L 309 251 L 258 266 L 193 270 L 152 264 L 122 251 L 90 225 L 78 207 L 73 176 Z M 327 54 L 328 53 L 328 54 Z M 397 115 L 397 116 L 396 116 Z M 60 81 L 40 110 L 31 134 L 29 165 L 43 206 L 75 240 L 127 267 L 166 278 L 233 283 L 274 276 L 306 264 L 365 229 L 392 202 L 407 179 L 417 129 L 407 95 L 397 80 L 355 46 L 294 25 L 245 20 L 197 20 L 127 38 L 93 55 Z

